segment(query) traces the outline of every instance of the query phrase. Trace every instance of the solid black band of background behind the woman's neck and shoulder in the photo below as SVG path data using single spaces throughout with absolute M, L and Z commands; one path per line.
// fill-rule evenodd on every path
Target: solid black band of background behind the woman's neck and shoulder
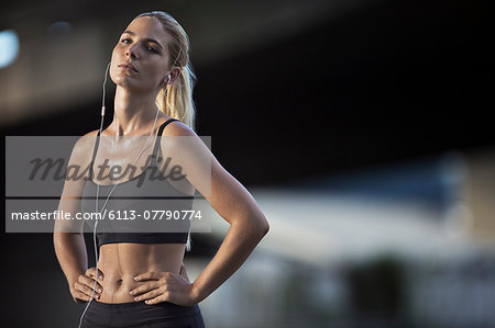
M 493 146 L 488 12 L 479 1 L 376 1 L 195 66 L 197 133 L 248 185 Z M 2 134 L 82 135 L 98 127 L 99 103 Z

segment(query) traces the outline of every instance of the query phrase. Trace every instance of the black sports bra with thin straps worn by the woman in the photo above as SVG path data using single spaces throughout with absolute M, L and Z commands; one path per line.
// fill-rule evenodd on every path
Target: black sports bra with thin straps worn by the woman
M 81 210 L 85 213 L 101 212 L 98 220 L 98 246 L 116 242 L 136 244 L 186 244 L 190 230 L 187 211 L 191 211 L 194 196 L 175 189 L 161 174 L 156 166 L 160 139 L 170 118 L 160 126 L 150 166 L 139 176 L 117 183 L 112 194 L 105 202 L 114 184 L 99 184 L 98 210 L 96 208 L 97 184 L 94 182 L 94 163 L 100 142 L 98 132 L 86 181 Z M 153 179 L 148 179 L 152 177 Z M 101 208 L 103 207 L 103 211 Z M 177 217 L 179 219 L 177 219 Z M 100 231 L 100 233 L 98 233 Z M 156 233 L 160 231 L 160 233 Z

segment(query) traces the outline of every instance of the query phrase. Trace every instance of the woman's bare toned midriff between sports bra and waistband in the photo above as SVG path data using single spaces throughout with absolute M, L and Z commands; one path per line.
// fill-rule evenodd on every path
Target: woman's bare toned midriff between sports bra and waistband
M 100 282 L 103 291 L 101 303 L 134 302 L 130 291 L 146 283 L 134 276 L 145 272 L 179 273 L 185 244 L 106 244 L 100 247 L 98 269 L 103 272 Z

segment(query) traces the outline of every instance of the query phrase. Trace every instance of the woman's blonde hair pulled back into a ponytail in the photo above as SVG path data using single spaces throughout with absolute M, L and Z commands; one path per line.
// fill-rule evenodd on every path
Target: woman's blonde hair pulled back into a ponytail
M 175 80 L 174 84 L 166 84 L 160 90 L 156 103 L 163 113 L 179 120 L 195 131 L 196 110 L 193 100 L 193 89 L 196 82 L 196 75 L 189 61 L 189 37 L 186 31 L 169 13 L 164 11 L 150 11 L 138 15 L 138 18 L 157 19 L 165 32 L 172 36 L 172 42 L 168 44 L 170 69 L 174 66 L 179 67 L 180 76 Z

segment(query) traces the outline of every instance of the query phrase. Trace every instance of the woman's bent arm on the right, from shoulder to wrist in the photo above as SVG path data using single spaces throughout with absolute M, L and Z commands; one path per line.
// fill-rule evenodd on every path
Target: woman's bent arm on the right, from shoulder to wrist
M 175 124 L 170 132 L 187 136 L 187 140 L 167 138 L 162 143 L 162 154 L 174 154 L 172 162 L 183 168 L 189 182 L 230 224 L 216 256 L 193 283 L 193 298 L 199 303 L 244 263 L 270 225 L 253 196 L 218 162 L 194 132 L 182 124 Z M 201 165 L 205 159 L 211 163 L 208 168 Z

